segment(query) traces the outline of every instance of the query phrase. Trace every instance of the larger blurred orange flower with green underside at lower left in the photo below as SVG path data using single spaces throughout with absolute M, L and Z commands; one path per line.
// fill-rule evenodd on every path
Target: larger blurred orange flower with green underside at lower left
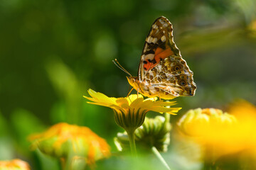
M 85 157 L 87 164 L 110 156 L 110 147 L 104 139 L 87 127 L 58 123 L 41 134 L 31 135 L 33 149 L 66 159 L 72 156 Z

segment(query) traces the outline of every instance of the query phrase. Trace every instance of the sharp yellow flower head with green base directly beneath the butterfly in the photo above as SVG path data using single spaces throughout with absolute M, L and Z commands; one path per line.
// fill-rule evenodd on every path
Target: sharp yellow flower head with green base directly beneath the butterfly
M 159 113 L 175 114 L 181 108 L 166 108 L 165 106 L 174 106 L 175 101 L 156 101 L 157 98 L 146 98 L 139 94 L 132 94 L 125 98 L 108 97 L 105 94 L 88 90 L 91 97 L 84 96 L 92 102 L 87 102 L 99 106 L 106 106 L 114 110 L 114 118 L 117 125 L 125 130 L 128 128 L 139 128 L 144 122 L 148 111 Z

